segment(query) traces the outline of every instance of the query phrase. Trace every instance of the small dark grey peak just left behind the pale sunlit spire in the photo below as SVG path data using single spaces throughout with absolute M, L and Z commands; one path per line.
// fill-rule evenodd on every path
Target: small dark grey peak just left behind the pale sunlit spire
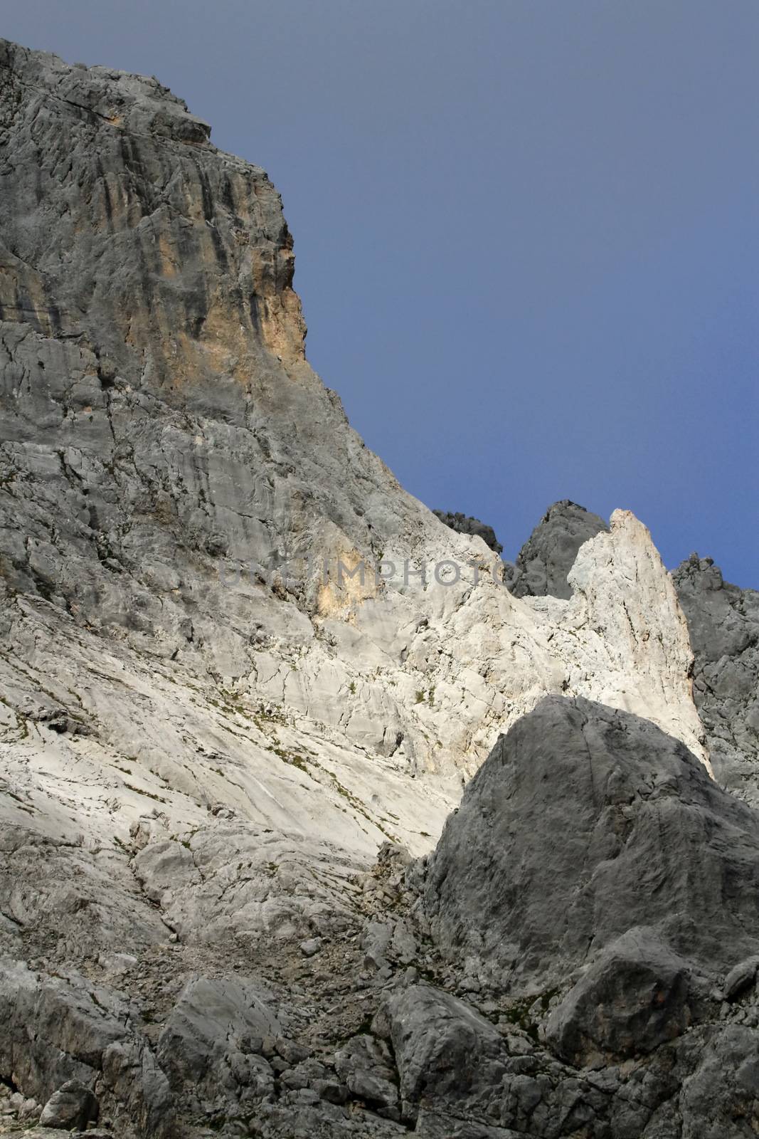
M 571 597 L 567 574 L 584 542 L 609 530 L 597 514 L 562 499 L 548 507 L 517 556 L 515 597 Z

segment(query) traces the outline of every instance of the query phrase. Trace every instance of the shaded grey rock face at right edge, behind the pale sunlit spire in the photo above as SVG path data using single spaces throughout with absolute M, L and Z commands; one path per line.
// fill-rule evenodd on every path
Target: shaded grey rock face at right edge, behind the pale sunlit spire
M 715 778 L 759 805 L 759 592 L 692 555 L 673 574 L 693 647 L 693 699 Z

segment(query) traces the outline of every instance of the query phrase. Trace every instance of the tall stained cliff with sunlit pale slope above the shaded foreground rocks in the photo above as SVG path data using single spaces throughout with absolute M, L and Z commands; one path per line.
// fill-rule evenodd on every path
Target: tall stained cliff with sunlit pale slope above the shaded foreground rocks
M 315 782 L 339 841 L 419 850 L 462 773 L 546 691 L 630 707 L 698 747 L 690 650 L 671 605 L 649 612 L 662 570 L 643 527 L 620 518 L 612 542 L 619 573 L 640 562 L 621 641 L 595 612 L 605 564 L 591 559 L 566 613 L 519 604 L 498 559 L 402 491 L 305 362 L 263 171 L 216 150 L 155 81 L 2 50 L 16 793 L 47 800 L 26 732 L 55 722 L 73 730 L 46 762 L 73 764 L 90 830 L 106 778 L 179 793 L 187 825 L 224 801 L 321 837 Z M 143 781 L 121 779 L 132 763 Z M 119 794 L 127 828 L 139 798 Z

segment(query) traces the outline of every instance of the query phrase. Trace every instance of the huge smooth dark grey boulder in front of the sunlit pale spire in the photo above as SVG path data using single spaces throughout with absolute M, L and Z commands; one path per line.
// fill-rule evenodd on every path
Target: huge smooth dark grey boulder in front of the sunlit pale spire
M 429 859 L 440 944 L 514 992 L 635 926 L 698 967 L 759 948 L 759 818 L 636 716 L 546 697 L 496 744 Z

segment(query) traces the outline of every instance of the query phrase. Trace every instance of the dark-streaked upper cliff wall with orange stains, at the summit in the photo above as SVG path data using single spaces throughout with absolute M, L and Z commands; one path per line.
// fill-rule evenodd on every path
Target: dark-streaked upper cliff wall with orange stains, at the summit
M 0 67 L 2 150 L 16 158 L 0 173 L 14 270 L 3 319 L 86 343 L 102 390 L 146 370 L 158 387 L 176 387 L 188 367 L 211 378 L 234 351 L 233 323 L 238 346 L 263 337 L 303 355 L 291 239 L 263 171 L 218 161 L 208 125 L 156 80 L 7 41 Z

